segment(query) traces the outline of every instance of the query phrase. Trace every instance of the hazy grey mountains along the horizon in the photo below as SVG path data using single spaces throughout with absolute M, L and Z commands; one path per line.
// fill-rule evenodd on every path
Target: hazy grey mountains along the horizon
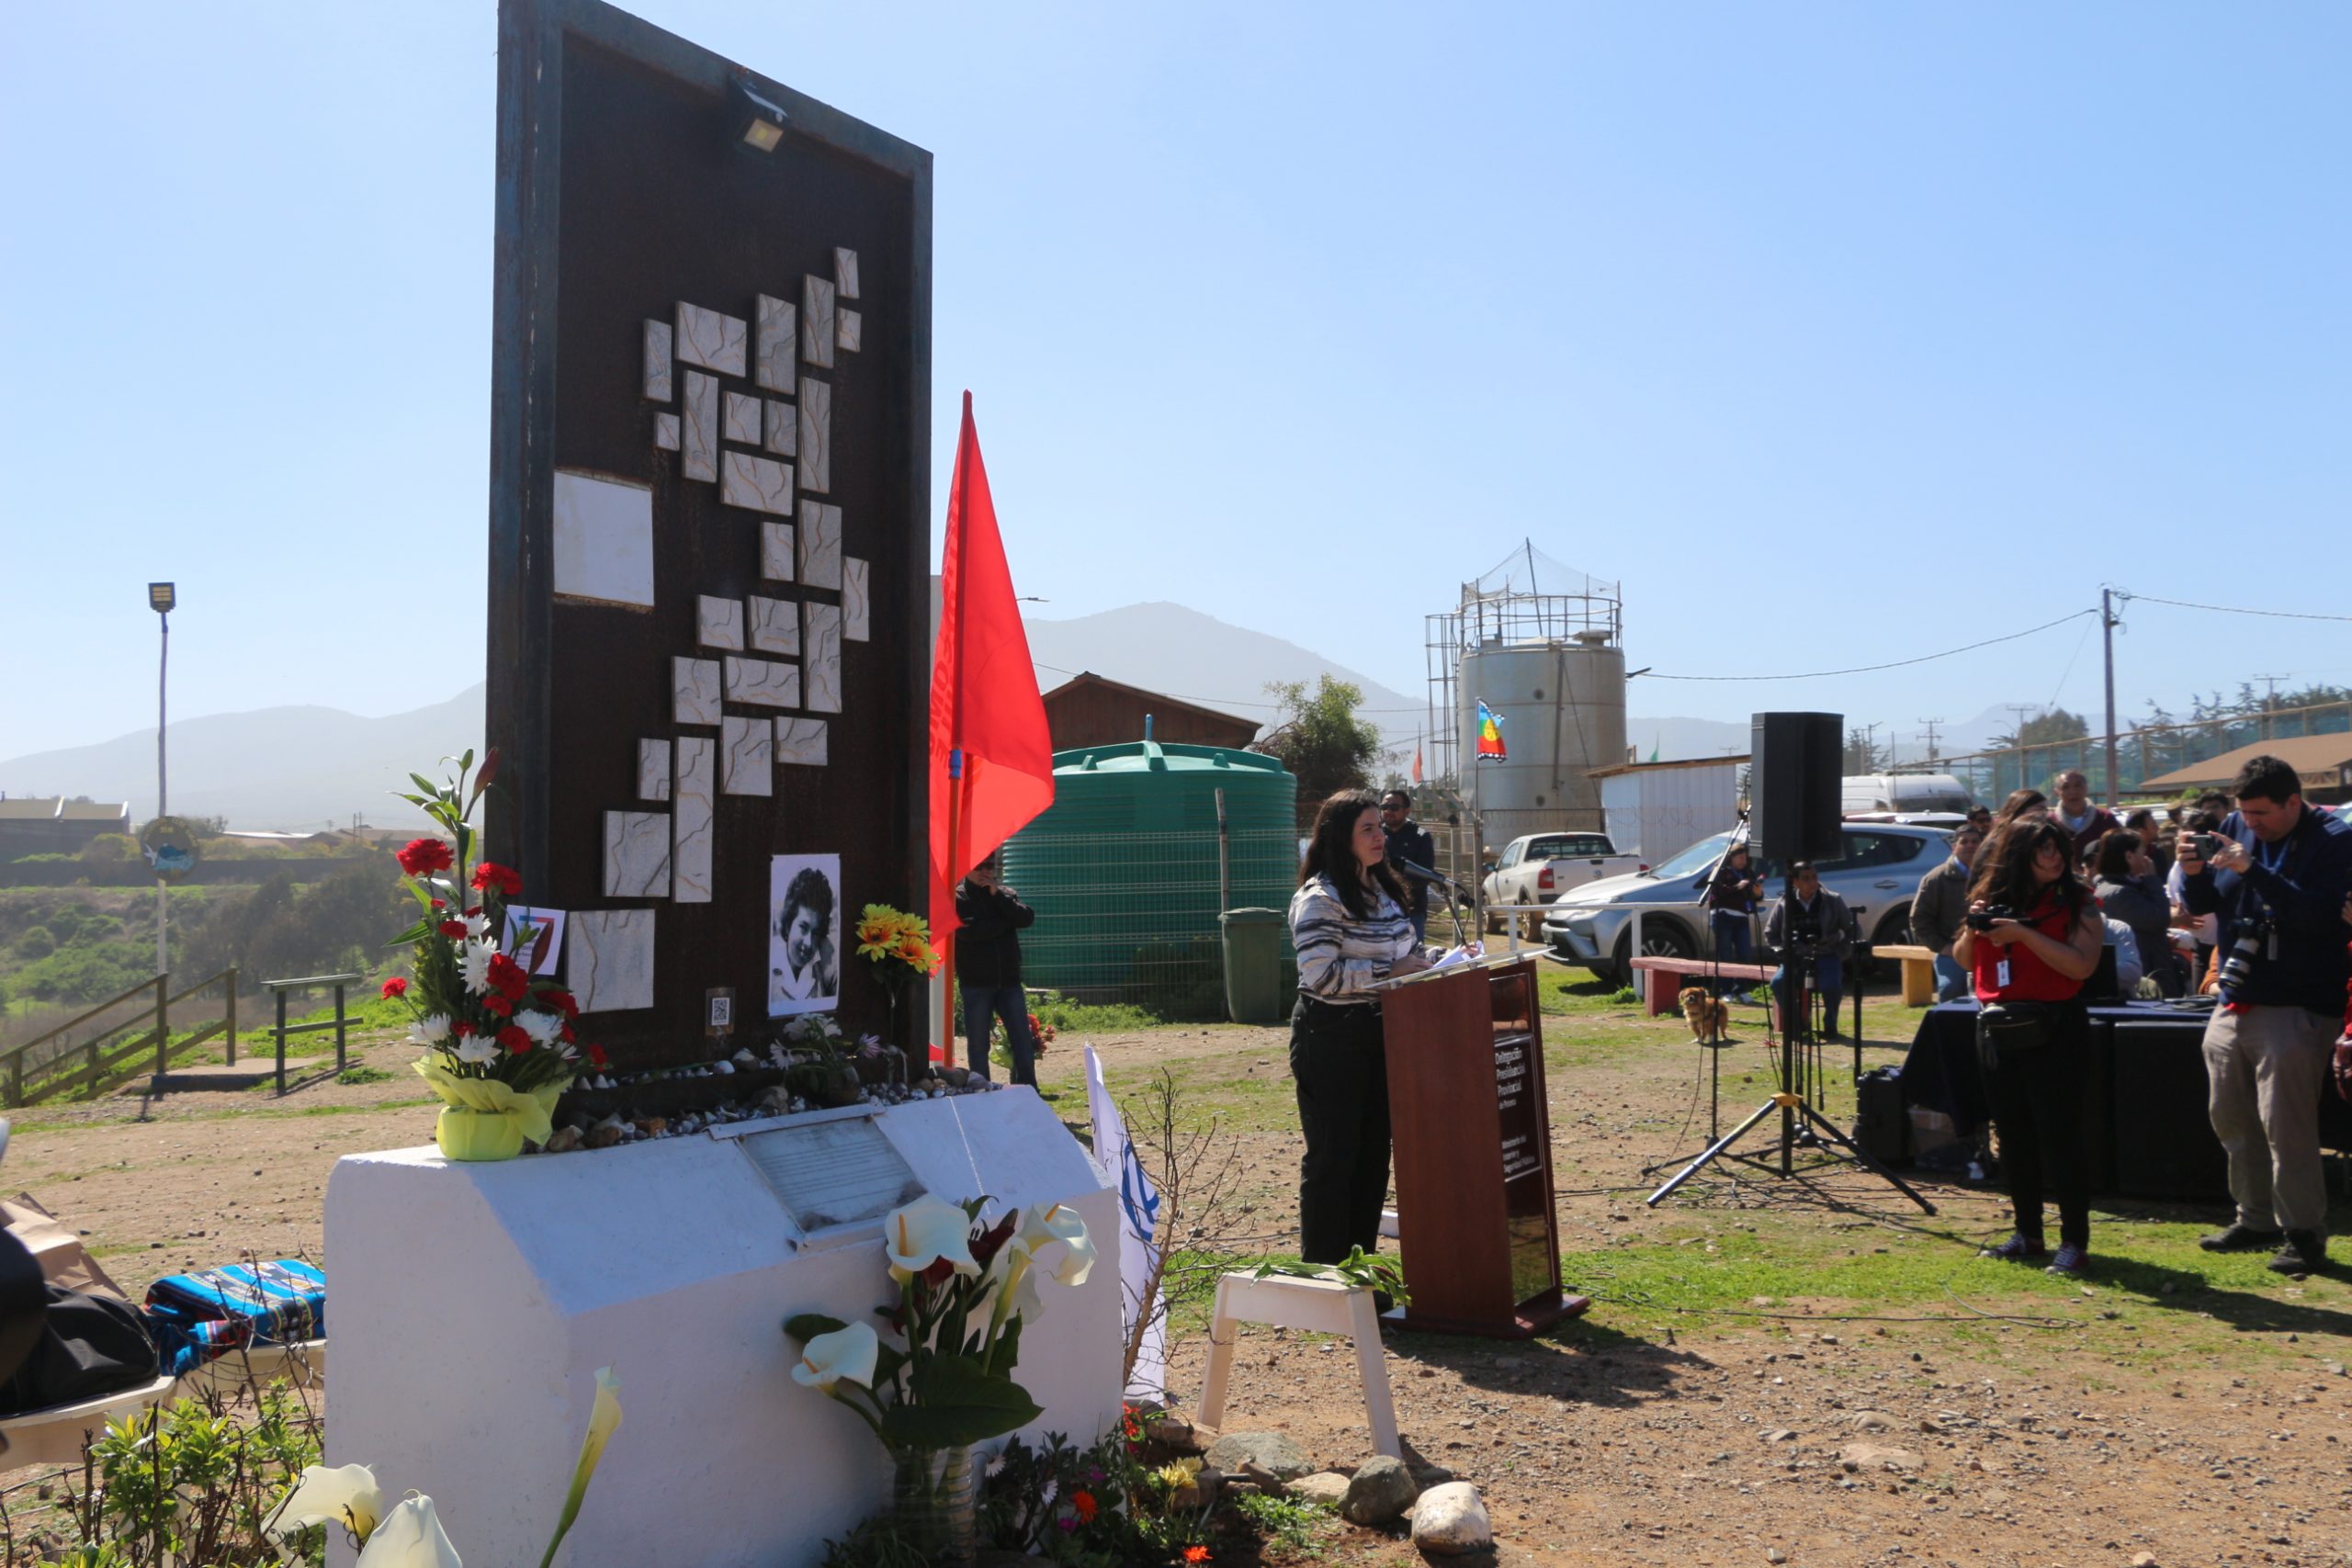
M 1352 682 L 1364 693 L 1364 717 L 1383 741 L 1409 755 L 1425 729 L 1428 710 L 1418 691 L 1406 693 L 1331 663 L 1296 642 L 1228 625 L 1183 604 L 1129 604 L 1070 621 L 1025 623 L 1040 689 L 1051 691 L 1070 675 L 1091 670 L 1108 679 L 1164 691 L 1202 708 L 1275 717 L 1268 682 L 1308 682 L 1322 675 Z M 1642 696 L 1639 684 L 1632 693 Z M 1973 750 L 2011 715 L 1994 705 L 1976 719 L 1940 731 L 1945 755 Z M 482 738 L 482 686 L 383 717 L 360 717 L 339 708 L 259 708 L 216 712 L 172 724 L 172 811 L 221 816 L 233 827 L 318 830 L 348 827 L 355 816 L 376 825 L 421 820 L 390 797 L 412 769 L 430 771 L 433 759 L 456 755 Z M 1686 717 L 1628 717 L 1625 738 L 1649 757 L 1719 757 L 1748 750 L 1748 724 Z M 1903 743 L 1903 757 L 1924 748 Z M 75 745 L 0 762 L 0 797 L 87 795 L 132 802 L 132 818 L 146 820 L 155 797 L 155 731 L 134 729 L 96 745 Z

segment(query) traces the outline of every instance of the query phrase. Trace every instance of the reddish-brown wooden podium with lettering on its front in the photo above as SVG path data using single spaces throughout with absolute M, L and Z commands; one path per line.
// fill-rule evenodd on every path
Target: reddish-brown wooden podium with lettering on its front
M 1592 1302 L 1559 1291 L 1534 959 L 1381 990 L 1402 1326 L 1524 1340 L 1581 1314 Z

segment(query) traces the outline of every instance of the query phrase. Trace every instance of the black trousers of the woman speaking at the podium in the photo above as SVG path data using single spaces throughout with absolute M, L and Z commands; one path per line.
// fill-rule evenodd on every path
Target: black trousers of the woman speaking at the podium
M 1381 1251 L 1388 1201 L 1388 1053 L 1378 1006 L 1291 1011 L 1291 1079 L 1298 1084 L 1298 1255 L 1338 1262 L 1348 1248 Z

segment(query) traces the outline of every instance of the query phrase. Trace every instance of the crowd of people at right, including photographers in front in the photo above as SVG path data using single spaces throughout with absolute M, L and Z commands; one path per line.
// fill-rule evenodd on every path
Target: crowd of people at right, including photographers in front
M 1978 1060 L 2002 1140 L 2013 1234 L 1987 1248 L 2079 1274 L 2091 1248 L 2079 1138 L 2091 1051 L 2086 983 L 2100 950 L 2129 994 L 2211 994 L 2206 1110 L 2237 1213 L 2209 1251 L 2277 1248 L 2270 1267 L 2326 1265 L 2319 1095 L 2352 1098 L 2352 825 L 2303 799 L 2277 757 L 2192 809 L 2096 806 L 2082 773 L 2058 802 L 2018 790 L 1971 813 L 1952 858 L 1919 882 L 1912 938 L 1938 990 L 1980 1004 Z M 2058 1206 L 2046 1248 L 2044 1201 Z

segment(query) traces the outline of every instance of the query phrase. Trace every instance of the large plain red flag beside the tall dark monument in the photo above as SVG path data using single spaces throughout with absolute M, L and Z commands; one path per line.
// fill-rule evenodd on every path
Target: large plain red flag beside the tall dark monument
M 962 752 L 962 778 L 950 759 Z M 948 489 L 948 552 L 938 576 L 931 665 L 931 936 L 955 929 L 955 884 L 988 851 L 1054 804 L 1054 738 L 988 498 L 981 437 L 964 393 Z

